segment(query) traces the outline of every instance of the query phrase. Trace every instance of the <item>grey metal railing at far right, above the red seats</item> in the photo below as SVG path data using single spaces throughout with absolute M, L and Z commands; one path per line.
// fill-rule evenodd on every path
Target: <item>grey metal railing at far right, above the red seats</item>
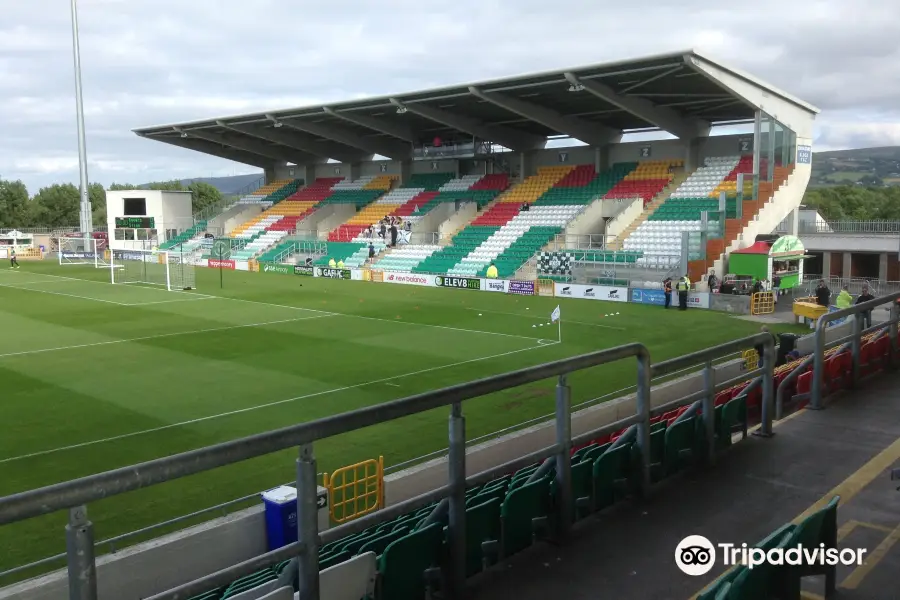
M 859 358 L 860 348 L 862 347 L 862 336 L 867 333 L 886 331 L 888 337 L 891 340 L 890 364 L 892 366 L 896 364 L 897 325 L 898 323 L 900 323 L 900 310 L 898 310 L 898 308 L 900 307 L 898 307 L 897 305 L 898 300 L 900 300 L 900 292 L 894 292 L 892 294 L 881 296 L 880 298 L 875 298 L 874 300 L 869 300 L 868 302 L 856 304 L 854 306 L 851 306 L 850 308 L 844 308 L 835 312 L 826 313 L 819 317 L 819 320 L 816 322 L 815 349 L 813 350 L 813 381 L 809 403 L 809 407 L 811 409 L 819 410 L 822 408 L 822 391 L 825 379 L 825 351 L 827 349 L 848 342 L 850 343 L 850 352 L 853 356 L 853 376 L 851 378 L 851 385 L 855 385 L 855 383 L 859 380 L 858 369 L 860 364 Z M 875 325 L 873 327 L 863 329 L 864 313 L 868 313 L 878 308 L 879 306 L 884 306 L 885 304 L 890 305 L 890 318 L 883 323 L 879 323 L 878 325 Z M 847 317 L 852 317 L 852 319 L 850 320 L 851 334 L 838 338 L 836 340 L 831 340 L 830 342 L 826 342 L 825 330 L 828 328 L 828 324 L 834 321 L 845 319 Z

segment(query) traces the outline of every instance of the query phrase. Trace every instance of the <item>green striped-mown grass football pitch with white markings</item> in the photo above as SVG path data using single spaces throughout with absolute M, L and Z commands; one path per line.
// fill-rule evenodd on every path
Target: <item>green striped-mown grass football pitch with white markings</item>
M 237 271 L 220 288 L 215 270 L 196 277 L 197 291 L 175 293 L 112 285 L 108 271 L 83 266 L 0 268 L 0 496 L 623 343 L 642 342 L 659 361 L 758 331 L 703 310 Z M 561 343 L 547 326 L 557 304 Z M 634 378 L 630 363 L 581 372 L 573 402 Z M 467 435 L 552 414 L 553 386 L 468 402 Z M 323 441 L 316 454 L 321 472 L 379 455 L 389 467 L 446 440 L 439 410 Z M 294 457 L 95 503 L 96 537 L 290 481 Z M 62 552 L 65 518 L 0 528 L 0 571 Z

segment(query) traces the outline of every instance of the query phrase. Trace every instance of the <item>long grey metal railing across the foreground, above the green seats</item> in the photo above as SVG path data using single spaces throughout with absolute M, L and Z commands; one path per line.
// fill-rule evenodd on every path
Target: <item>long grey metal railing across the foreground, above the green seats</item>
M 749 371 L 730 381 L 720 384 L 715 383 L 712 370 L 713 361 L 723 356 L 731 355 L 735 351 L 758 345 L 763 345 L 765 348 L 765 364 L 767 368 L 764 371 Z M 290 447 L 297 447 L 299 451 L 297 459 L 298 541 L 239 565 L 178 586 L 173 590 L 157 594 L 151 600 L 184 600 L 195 594 L 229 583 L 259 568 L 291 557 L 297 557 L 299 561 L 300 598 L 302 600 L 317 600 L 319 576 L 317 549 L 319 544 L 362 531 L 374 523 L 427 506 L 433 501 L 444 497 L 449 497 L 450 506 L 448 539 L 451 576 L 448 592 L 450 598 L 460 598 L 462 597 L 465 583 L 465 492 L 467 486 L 478 485 L 539 460 L 555 457 L 557 465 L 556 479 L 561 494 L 561 502 L 558 503 L 560 531 L 564 535 L 572 523 L 572 503 L 569 501 L 571 500 L 570 454 L 574 445 L 588 442 L 622 428 L 637 426 L 637 443 L 642 449 L 639 478 L 640 490 L 642 493 L 650 491 L 651 374 L 665 375 L 683 369 L 686 366 L 705 363 L 705 389 L 681 400 L 676 400 L 667 406 L 686 404 L 698 400 L 702 401 L 705 407 L 703 410 L 704 419 L 708 421 L 705 424 L 707 428 L 714 427 L 715 413 L 712 409 L 712 402 L 714 401 L 715 393 L 719 389 L 725 389 L 739 381 L 745 381 L 761 374 L 765 375 L 761 382 L 763 386 L 763 424 L 761 431 L 765 435 L 766 432 L 771 431 L 773 357 L 773 338 L 766 334 L 757 334 L 668 360 L 654 365 L 652 369 L 649 352 L 641 344 L 628 344 L 600 350 L 0 498 L 0 525 L 68 509 L 66 548 L 70 598 L 96 600 L 97 574 L 94 558 L 93 525 L 88 520 L 87 503 L 250 458 L 271 454 Z M 635 414 L 573 438 L 571 431 L 571 390 L 567 376 L 575 371 L 628 358 L 634 358 L 637 361 Z M 477 475 L 466 477 L 463 401 L 536 383 L 548 378 L 558 378 L 555 414 L 556 443 Z M 316 507 L 317 472 L 313 443 L 317 440 L 323 440 L 445 406 L 451 407 L 448 449 L 450 481 L 448 485 L 405 502 L 392 505 L 346 525 L 329 529 L 319 535 Z M 654 412 L 661 409 L 662 407 L 657 407 Z M 712 459 L 712 457 L 710 458 Z

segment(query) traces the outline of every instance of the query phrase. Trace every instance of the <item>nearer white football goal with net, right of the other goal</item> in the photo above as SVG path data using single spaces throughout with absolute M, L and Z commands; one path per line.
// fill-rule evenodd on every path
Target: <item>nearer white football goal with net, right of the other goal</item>
M 143 284 L 164 287 L 170 292 L 192 290 L 194 265 L 190 254 L 180 249 L 112 250 L 110 278 L 118 284 Z

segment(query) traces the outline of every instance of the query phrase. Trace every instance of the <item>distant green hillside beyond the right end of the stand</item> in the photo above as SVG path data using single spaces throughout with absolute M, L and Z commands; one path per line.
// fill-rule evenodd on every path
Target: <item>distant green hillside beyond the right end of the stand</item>
M 900 146 L 814 152 L 811 187 L 900 185 Z

